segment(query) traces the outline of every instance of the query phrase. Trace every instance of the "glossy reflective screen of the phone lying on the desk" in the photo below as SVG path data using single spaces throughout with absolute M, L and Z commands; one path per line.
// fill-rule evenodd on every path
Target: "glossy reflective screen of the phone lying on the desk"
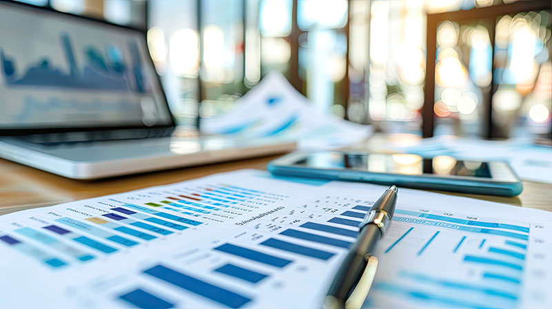
M 431 159 L 411 154 L 355 154 L 346 152 L 315 152 L 302 157 L 295 166 L 310 168 L 351 169 L 365 172 L 404 175 L 455 175 L 492 178 L 489 164 L 462 161 L 449 156 Z

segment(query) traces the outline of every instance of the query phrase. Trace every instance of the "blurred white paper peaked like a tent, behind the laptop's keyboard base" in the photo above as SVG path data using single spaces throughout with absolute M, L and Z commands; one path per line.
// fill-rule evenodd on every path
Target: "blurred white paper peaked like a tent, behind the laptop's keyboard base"
M 371 126 L 322 114 L 279 73 L 266 75 L 230 112 L 202 119 L 200 130 L 297 141 L 301 149 L 351 146 L 373 133 Z

